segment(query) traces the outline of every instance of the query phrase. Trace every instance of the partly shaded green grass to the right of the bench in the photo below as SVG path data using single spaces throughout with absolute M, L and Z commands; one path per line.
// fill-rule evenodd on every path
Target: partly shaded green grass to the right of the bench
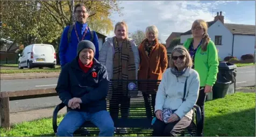
M 255 136 L 255 92 L 211 100 L 205 112 L 205 136 Z

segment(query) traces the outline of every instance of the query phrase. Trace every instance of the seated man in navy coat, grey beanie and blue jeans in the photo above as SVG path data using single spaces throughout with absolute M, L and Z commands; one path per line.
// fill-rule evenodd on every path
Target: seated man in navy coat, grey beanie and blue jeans
M 73 136 L 85 121 L 91 121 L 99 128 L 99 136 L 114 135 L 113 120 L 106 111 L 108 73 L 94 56 L 93 42 L 80 41 L 76 58 L 61 70 L 55 90 L 70 111 L 58 126 L 58 136 Z

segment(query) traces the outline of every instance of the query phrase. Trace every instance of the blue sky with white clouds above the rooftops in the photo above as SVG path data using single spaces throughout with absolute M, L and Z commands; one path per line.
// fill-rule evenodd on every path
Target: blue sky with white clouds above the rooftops
M 113 25 L 125 20 L 128 31 L 155 25 L 162 43 L 172 32 L 186 32 L 195 19 L 214 20 L 223 11 L 224 22 L 255 25 L 255 1 L 120 1 L 123 16 L 113 13 Z M 214 12 L 212 12 L 212 10 Z M 113 32 L 108 37 L 115 35 Z

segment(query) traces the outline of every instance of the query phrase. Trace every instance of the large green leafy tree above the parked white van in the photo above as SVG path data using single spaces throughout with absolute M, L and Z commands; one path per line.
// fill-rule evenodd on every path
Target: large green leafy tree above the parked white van
M 62 30 L 37 1 L 1 1 L 1 21 L 2 38 L 25 46 L 52 42 Z

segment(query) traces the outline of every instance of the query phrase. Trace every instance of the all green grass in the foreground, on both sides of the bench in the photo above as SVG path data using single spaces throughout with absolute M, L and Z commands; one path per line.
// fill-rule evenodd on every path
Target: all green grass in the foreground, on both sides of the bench
M 255 93 L 237 92 L 210 100 L 205 103 L 205 115 L 204 136 L 255 136 Z M 1 128 L 1 136 L 54 136 L 52 119 L 23 122 L 10 131 Z

